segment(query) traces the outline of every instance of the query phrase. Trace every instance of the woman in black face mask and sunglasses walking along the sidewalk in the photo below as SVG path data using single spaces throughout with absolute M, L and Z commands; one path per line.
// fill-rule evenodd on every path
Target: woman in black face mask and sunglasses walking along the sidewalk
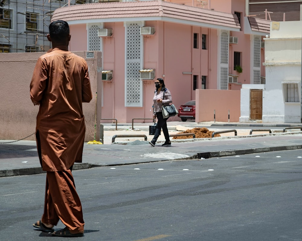
M 152 141 L 149 142 L 151 146 L 155 146 L 155 143 L 157 141 L 157 138 L 159 137 L 160 130 L 162 129 L 162 132 L 165 136 L 165 143 L 162 144 L 162 146 L 171 146 L 171 141 L 169 138 L 168 128 L 167 128 L 167 119 L 169 118 L 163 118 L 162 117 L 162 106 L 169 105 L 169 103 L 172 103 L 172 96 L 170 91 L 165 87 L 164 80 L 162 78 L 158 78 L 155 81 L 155 93 L 153 97 L 153 119 L 157 118 L 157 125 L 156 125 L 156 131 L 155 135 L 152 139 Z

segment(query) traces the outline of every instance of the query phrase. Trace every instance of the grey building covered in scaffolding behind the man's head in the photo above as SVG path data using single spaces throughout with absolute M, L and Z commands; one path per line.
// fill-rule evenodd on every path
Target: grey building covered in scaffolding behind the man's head
M 56 8 L 104 0 L 0 0 L 0 53 L 45 52 Z M 118 2 L 104 1 L 104 2 Z

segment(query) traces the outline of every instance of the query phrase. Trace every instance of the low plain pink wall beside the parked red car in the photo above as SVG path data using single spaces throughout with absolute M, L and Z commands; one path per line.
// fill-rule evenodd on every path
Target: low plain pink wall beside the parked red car
M 239 90 L 196 90 L 196 122 L 214 121 L 239 122 L 240 91 Z

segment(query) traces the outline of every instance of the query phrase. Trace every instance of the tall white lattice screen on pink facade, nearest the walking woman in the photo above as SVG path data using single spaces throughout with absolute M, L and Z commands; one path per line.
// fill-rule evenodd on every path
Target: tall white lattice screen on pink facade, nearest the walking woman
M 125 83 L 125 106 L 142 106 L 142 81 L 139 70 L 141 67 L 140 35 L 141 23 L 126 24 L 126 83 Z

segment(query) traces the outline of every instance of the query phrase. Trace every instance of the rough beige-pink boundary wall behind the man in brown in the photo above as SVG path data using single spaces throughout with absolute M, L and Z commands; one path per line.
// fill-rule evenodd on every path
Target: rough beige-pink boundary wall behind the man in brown
M 86 51 L 74 52 L 86 59 Z M 0 139 L 19 140 L 35 132 L 36 116 L 39 110 L 30 99 L 30 82 L 39 53 L 1 53 L 0 54 Z M 94 139 L 95 132 L 95 94 L 98 91 L 98 115 L 101 119 L 101 52 L 94 52 L 94 58 L 86 59 L 94 98 L 90 103 L 83 103 L 85 115 L 85 141 Z M 100 75 L 100 76 L 98 76 Z M 97 125 L 96 140 L 99 139 Z M 26 140 L 35 140 L 35 136 Z

